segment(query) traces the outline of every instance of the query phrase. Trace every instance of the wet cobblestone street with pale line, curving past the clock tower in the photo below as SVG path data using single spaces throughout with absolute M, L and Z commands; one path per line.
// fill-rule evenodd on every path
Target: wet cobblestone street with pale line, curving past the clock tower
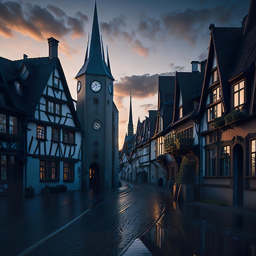
M 0 200 L 1 255 L 121 255 L 164 209 L 139 184 Z

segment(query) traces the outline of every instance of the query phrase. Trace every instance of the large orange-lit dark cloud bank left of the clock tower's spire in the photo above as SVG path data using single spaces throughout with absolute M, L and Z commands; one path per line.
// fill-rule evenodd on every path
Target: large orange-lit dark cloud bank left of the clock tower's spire
M 0 2 L 0 35 L 4 37 L 13 37 L 15 31 L 38 41 L 51 36 L 60 39 L 68 34 L 78 38 L 84 35 L 87 21 L 88 17 L 81 12 L 68 16 L 52 4 L 42 8 L 38 4 Z

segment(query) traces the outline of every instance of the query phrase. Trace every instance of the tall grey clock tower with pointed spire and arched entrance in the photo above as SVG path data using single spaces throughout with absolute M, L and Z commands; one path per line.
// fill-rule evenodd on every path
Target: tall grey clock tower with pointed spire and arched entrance
M 88 56 L 77 80 L 77 115 L 83 126 L 82 189 L 108 189 L 119 184 L 118 110 L 107 49 L 105 62 L 95 2 Z

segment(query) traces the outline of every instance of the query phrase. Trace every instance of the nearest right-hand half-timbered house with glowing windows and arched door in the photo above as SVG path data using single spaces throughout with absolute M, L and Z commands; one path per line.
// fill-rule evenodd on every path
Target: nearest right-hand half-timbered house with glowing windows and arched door
M 241 27 L 209 29 L 200 100 L 202 196 L 256 206 L 256 2 Z

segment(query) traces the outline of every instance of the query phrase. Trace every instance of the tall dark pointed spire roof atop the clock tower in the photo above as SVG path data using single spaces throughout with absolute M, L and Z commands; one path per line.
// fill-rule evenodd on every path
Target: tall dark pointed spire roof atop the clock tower
M 92 22 L 89 58 L 85 59 L 85 63 L 79 70 L 76 78 L 83 74 L 103 75 L 108 76 L 113 81 L 115 80 L 111 74 L 110 68 L 106 65 L 106 62 L 103 59 L 96 2 Z

